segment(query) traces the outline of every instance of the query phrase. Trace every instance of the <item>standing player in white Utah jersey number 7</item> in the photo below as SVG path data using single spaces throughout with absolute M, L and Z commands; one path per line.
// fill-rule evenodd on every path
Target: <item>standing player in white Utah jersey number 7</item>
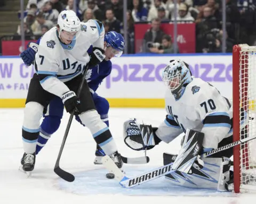
M 62 11 L 58 25 L 41 38 L 35 56 L 35 70 L 29 84 L 24 110 L 22 140 L 24 154 L 22 169 L 31 172 L 36 160 L 36 143 L 43 109 L 55 96 L 62 99 L 66 111 L 75 109 L 81 122 L 89 128 L 94 140 L 122 168 L 123 162 L 108 126 L 95 110 L 91 93 L 85 81 L 81 96 L 76 91 L 86 66 L 97 65 L 106 57 L 103 53 L 105 30 L 101 22 L 89 20 L 81 23 L 75 12 Z M 89 56 L 87 49 L 93 45 Z M 90 62 L 89 62 L 90 61 Z

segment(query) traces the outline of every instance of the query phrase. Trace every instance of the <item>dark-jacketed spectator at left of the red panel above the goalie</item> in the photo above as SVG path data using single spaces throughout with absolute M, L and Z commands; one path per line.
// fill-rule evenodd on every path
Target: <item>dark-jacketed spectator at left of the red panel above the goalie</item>
M 154 19 L 151 22 L 151 28 L 148 29 L 148 31 L 145 33 L 143 38 L 143 52 L 152 53 L 151 50 L 154 47 L 154 45 L 153 47 L 150 45 L 155 43 L 158 43 L 158 44 L 162 43 L 162 39 L 165 33 L 160 29 L 160 26 L 161 26 L 160 19 Z

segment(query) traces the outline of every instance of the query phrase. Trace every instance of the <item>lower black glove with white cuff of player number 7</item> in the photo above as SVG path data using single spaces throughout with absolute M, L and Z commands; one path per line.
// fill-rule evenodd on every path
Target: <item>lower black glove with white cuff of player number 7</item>
M 61 99 L 68 113 L 71 113 L 75 109 L 75 115 L 79 114 L 80 100 L 74 91 L 66 92 L 61 96 Z

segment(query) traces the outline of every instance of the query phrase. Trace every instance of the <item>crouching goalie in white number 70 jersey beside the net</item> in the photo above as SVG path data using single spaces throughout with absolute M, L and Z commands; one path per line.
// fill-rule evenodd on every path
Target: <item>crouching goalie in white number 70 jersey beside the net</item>
M 228 99 L 211 84 L 194 78 L 182 60 L 171 60 L 162 79 L 167 87 L 165 120 L 158 128 L 135 119 L 126 121 L 124 142 L 134 150 L 145 150 L 161 141 L 169 143 L 183 133 L 179 154 L 164 154 L 164 164 L 173 163 L 174 170 L 166 177 L 176 185 L 225 191 L 225 184 L 232 179 L 232 148 L 211 158 L 199 155 L 233 142 L 233 109 Z

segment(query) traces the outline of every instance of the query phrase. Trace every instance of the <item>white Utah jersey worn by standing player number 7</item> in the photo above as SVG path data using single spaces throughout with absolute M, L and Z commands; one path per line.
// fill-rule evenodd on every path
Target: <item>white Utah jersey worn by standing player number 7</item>
M 63 82 L 69 81 L 83 72 L 90 61 L 87 49 L 104 46 L 105 30 L 96 20 L 81 22 L 81 30 L 70 45 L 61 43 L 57 27 L 47 31 L 40 40 L 35 56 L 35 69 L 42 87 L 61 97 L 69 91 Z

